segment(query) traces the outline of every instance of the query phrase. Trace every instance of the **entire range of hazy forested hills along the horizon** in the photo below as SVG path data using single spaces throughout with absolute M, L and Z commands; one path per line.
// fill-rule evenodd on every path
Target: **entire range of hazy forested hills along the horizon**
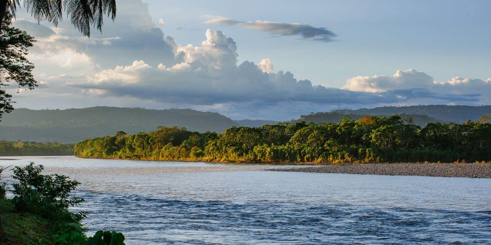
M 349 116 L 359 119 L 366 115 L 388 116 L 399 114 L 412 117 L 414 123 L 463 123 L 476 121 L 480 116 L 491 114 L 491 106 L 423 105 L 384 106 L 372 109 L 349 110 Z M 319 112 L 302 115 L 286 122 L 337 123 L 345 111 Z M 233 121 L 215 112 L 191 109 L 145 109 L 97 106 L 83 109 L 30 110 L 15 109 L 4 114 L 0 122 L 0 140 L 77 143 L 87 138 L 114 135 L 117 131 L 128 134 L 153 131 L 157 126 L 181 126 L 190 131 L 218 133 L 232 126 L 260 127 L 276 124 L 273 120 Z

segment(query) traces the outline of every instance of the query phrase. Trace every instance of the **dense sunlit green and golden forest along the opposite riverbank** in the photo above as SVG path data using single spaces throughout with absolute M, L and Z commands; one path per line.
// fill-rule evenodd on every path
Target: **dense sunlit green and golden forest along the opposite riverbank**
M 476 122 L 428 123 L 411 118 L 367 116 L 339 123 L 278 123 L 230 127 L 223 133 L 160 126 L 75 144 L 82 158 L 224 163 L 401 163 L 491 161 L 490 116 Z

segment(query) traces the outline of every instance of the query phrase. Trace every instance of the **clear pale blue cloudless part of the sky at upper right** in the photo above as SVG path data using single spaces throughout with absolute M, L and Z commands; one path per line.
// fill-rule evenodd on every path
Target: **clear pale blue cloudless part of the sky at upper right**
M 156 22 L 164 20 L 164 33 L 179 43 L 198 45 L 204 30 L 219 28 L 240 44 L 240 61 L 268 57 L 275 67 L 317 84 L 341 87 L 356 75 L 410 68 L 431 73 L 437 81 L 455 74 L 491 76 L 491 1 L 487 0 L 145 2 Z M 203 15 L 327 27 L 338 41 L 277 38 L 235 26 L 210 26 L 203 23 Z M 187 29 L 176 30 L 176 26 Z

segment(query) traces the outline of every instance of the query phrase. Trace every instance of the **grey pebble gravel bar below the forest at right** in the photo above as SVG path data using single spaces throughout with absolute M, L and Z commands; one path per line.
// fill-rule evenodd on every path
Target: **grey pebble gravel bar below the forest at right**
M 268 169 L 266 171 L 491 178 L 491 164 L 479 163 L 371 163 Z

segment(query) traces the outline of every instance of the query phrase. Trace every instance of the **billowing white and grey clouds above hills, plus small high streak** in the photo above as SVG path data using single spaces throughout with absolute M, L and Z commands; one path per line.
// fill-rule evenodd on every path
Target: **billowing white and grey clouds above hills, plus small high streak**
M 208 29 L 200 45 L 180 45 L 156 27 L 147 4 L 140 0 L 118 0 L 116 22 L 106 23 L 102 35 L 87 39 L 67 21 L 55 28 L 38 26 L 28 15 L 18 16 L 15 25 L 38 39 L 29 55 L 41 84 L 32 92 L 15 94 L 16 106 L 193 108 L 236 119 L 288 120 L 336 109 L 338 98 L 347 98 L 350 108 L 491 102 L 491 78 L 457 76 L 437 82 L 410 69 L 392 76 L 356 76 L 342 88 L 331 88 L 288 71 L 274 72 L 273 60 L 267 57 L 239 64 L 231 37 Z M 250 26 L 282 35 L 292 31 L 292 25 L 297 24 L 284 29 L 279 28 L 283 24 Z M 304 30 L 295 33 L 311 39 L 333 37 L 322 29 L 321 34 Z

